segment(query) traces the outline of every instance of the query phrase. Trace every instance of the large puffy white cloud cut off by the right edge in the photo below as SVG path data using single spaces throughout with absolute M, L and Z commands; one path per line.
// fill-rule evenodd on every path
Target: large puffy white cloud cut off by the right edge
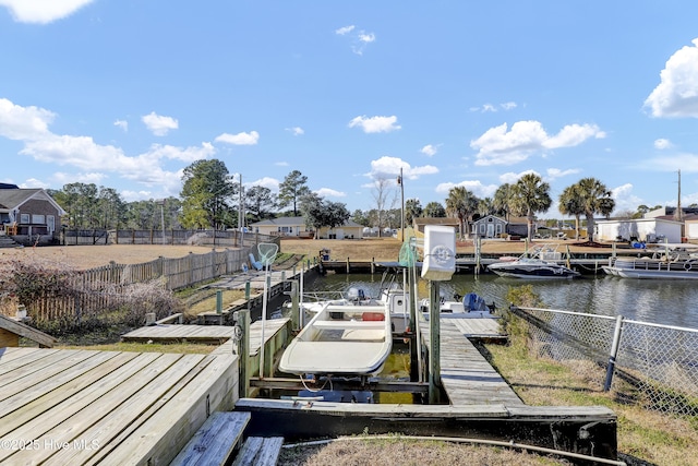
M 653 117 L 698 117 L 698 38 L 674 52 L 645 100 Z

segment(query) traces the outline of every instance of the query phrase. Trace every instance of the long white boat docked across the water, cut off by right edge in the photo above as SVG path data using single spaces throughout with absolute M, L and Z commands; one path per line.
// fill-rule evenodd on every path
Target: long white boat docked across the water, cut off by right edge
M 642 256 L 611 258 L 602 268 L 621 278 L 698 279 L 698 244 L 648 244 Z

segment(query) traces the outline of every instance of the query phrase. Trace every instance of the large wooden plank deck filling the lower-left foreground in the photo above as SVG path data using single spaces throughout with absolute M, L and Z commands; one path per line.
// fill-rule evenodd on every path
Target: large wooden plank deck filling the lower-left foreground
M 232 408 L 231 346 L 210 355 L 0 348 L 0 464 L 168 464 L 208 413 Z

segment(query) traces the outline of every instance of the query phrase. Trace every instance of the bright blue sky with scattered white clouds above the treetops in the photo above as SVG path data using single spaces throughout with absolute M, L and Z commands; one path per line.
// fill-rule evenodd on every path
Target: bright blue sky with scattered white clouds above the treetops
M 350 211 L 594 177 L 698 202 L 698 2 L 0 0 L 0 181 L 177 196 L 218 158 Z M 543 218 L 561 217 L 553 205 Z

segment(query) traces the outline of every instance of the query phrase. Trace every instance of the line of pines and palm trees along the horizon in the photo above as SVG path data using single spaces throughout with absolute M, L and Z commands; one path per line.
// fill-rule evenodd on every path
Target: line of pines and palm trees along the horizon
M 526 217 L 528 236 L 532 238 L 537 214 L 550 210 L 553 199 L 550 184 L 535 174 L 524 175 L 516 183 L 502 184 L 493 198 L 480 199 L 465 187 L 452 188 L 444 203 L 422 206 L 418 199 L 407 199 L 404 211 L 398 200 L 397 182 L 381 178 L 374 182 L 374 205 L 366 211 L 349 213 L 346 204 L 327 201 L 308 187 L 308 177 L 298 170 L 289 172 L 279 183 L 278 193 L 263 186 L 243 187 L 218 159 L 197 160 L 184 168 L 179 198 L 124 202 L 112 188 L 94 183 L 69 183 L 49 194 L 65 210 L 63 224 L 69 228 L 133 229 L 227 229 L 280 216 L 303 216 L 309 229 L 338 227 L 348 219 L 366 227 L 399 228 L 418 217 L 455 217 L 460 231 L 468 235 L 468 225 L 486 215 L 497 215 L 507 222 L 512 216 Z M 577 236 L 582 217 L 588 238 L 593 240 L 595 215 L 609 215 L 615 208 L 611 191 L 595 178 L 583 178 L 565 188 L 558 198 L 559 213 L 575 218 Z M 641 216 L 650 207 L 641 205 Z

